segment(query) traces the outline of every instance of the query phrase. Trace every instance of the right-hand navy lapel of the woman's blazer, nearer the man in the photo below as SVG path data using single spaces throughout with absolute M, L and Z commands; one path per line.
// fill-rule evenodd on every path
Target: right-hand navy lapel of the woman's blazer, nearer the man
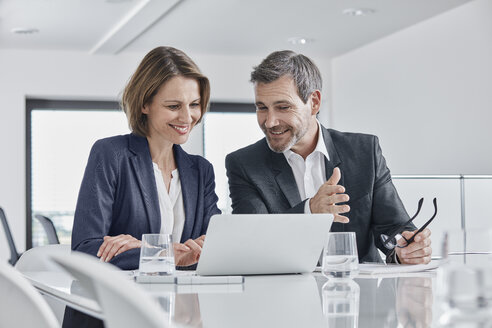
M 185 223 L 183 233 L 181 234 L 181 242 L 185 242 L 191 238 L 195 224 L 199 176 L 198 169 L 181 146 L 174 145 L 173 149 L 176 165 L 178 166 L 183 205 L 185 208 Z

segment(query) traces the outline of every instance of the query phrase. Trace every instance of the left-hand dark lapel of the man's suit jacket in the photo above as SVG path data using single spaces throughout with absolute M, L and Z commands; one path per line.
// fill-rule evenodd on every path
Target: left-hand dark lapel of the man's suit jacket
M 270 152 L 272 155 L 272 171 L 275 175 L 275 180 L 280 187 L 280 190 L 284 194 L 285 198 L 289 202 L 291 207 L 299 204 L 302 199 L 299 195 L 299 189 L 297 188 L 296 179 L 292 168 L 287 163 L 287 159 L 282 153 Z

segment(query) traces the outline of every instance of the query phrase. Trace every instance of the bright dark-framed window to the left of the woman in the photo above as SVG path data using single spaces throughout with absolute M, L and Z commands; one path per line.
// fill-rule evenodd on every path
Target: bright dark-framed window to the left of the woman
M 49 217 L 70 243 L 77 196 L 90 149 L 100 138 L 129 133 L 116 102 L 27 101 L 27 247 L 46 243 L 34 218 Z

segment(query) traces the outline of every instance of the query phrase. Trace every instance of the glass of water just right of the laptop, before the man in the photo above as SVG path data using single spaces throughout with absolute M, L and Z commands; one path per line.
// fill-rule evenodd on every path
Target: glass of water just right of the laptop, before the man
M 322 272 L 328 278 L 353 278 L 359 273 L 355 232 L 328 233 Z

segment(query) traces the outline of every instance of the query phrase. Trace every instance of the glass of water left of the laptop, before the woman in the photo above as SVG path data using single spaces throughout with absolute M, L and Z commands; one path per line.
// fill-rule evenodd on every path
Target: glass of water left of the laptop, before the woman
M 175 272 L 172 236 L 143 234 L 140 248 L 140 275 L 172 275 Z

